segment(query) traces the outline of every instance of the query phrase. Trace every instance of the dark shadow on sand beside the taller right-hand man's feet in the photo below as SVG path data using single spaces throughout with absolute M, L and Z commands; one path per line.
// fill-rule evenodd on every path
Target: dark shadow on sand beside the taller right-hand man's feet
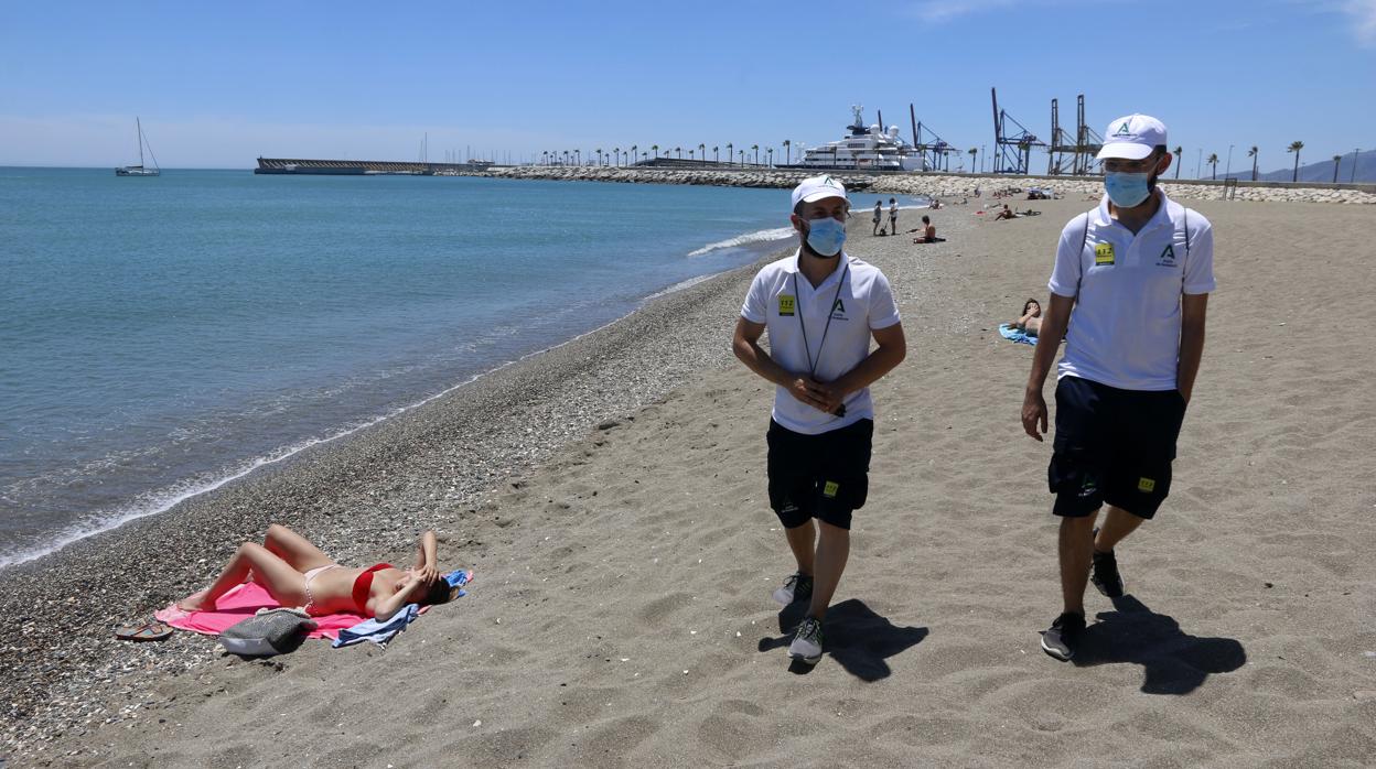
M 1233 638 L 1198 638 L 1181 631 L 1175 618 L 1156 614 L 1132 596 L 1113 598 L 1115 611 L 1098 614 L 1075 651 L 1075 664 L 1132 663 L 1146 673 L 1142 692 L 1187 695 L 1211 673 L 1232 673 L 1247 663 Z

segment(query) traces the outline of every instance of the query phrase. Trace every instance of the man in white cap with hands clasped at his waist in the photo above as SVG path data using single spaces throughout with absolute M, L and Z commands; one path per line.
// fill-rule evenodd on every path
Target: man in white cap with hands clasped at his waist
M 794 188 L 790 220 L 798 250 L 755 275 L 732 340 L 736 358 L 775 384 L 769 505 L 797 572 L 773 598 L 783 605 L 808 601 L 788 647 L 793 659 L 808 664 L 821 659 L 821 623 L 850 554 L 852 512 L 868 491 L 870 384 L 907 355 L 889 279 L 841 248 L 849 208 L 845 187 L 830 176 Z M 766 329 L 769 352 L 760 347 Z M 878 345 L 872 352 L 871 337 Z

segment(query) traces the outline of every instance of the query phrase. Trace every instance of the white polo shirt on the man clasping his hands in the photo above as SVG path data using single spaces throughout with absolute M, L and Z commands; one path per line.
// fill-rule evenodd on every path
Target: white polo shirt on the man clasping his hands
M 845 376 L 870 355 L 870 330 L 899 322 L 899 305 L 889 279 L 878 267 L 841 253 L 842 263 L 820 286 L 798 271 L 798 253 L 766 264 L 750 283 L 740 315 L 764 323 L 769 333 L 769 356 L 798 374 L 808 373 L 808 354 L 816 363 L 815 378 L 831 382 Z M 838 293 L 839 288 L 839 293 Z M 832 301 L 835 297 L 835 301 Z M 828 312 L 828 304 L 831 311 Z M 827 315 L 831 327 L 827 327 Z M 804 347 L 806 325 L 806 348 Z M 823 344 L 826 332 L 826 344 Z M 874 418 L 870 388 L 845 399 L 846 415 L 824 414 L 795 399 L 787 388 L 775 389 L 771 415 L 780 425 L 804 435 L 819 435 Z

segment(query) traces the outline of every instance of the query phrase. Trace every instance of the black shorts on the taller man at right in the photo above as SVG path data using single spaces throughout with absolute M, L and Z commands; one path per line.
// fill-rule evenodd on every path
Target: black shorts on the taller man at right
M 1055 442 L 1047 484 L 1054 513 L 1083 517 L 1108 502 L 1150 519 L 1171 492 L 1185 421 L 1176 389 L 1132 391 L 1079 377 L 1055 387 Z

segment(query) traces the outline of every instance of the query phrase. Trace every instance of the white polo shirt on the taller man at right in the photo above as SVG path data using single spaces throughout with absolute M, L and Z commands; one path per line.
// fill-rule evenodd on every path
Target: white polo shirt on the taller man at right
M 1181 294 L 1215 289 L 1214 228 L 1160 187 L 1156 194 L 1161 208 L 1135 235 L 1109 217 L 1108 195 L 1061 231 L 1047 288 L 1079 300 L 1057 378 L 1083 377 L 1120 389 L 1175 389 Z

